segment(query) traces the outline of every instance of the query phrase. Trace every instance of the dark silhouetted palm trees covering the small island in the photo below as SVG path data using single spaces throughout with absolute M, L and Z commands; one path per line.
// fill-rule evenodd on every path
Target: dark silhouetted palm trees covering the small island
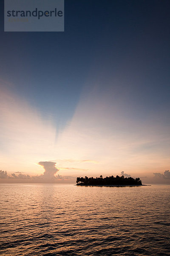
M 114 177 L 112 175 L 105 178 L 103 178 L 102 175 L 96 178 L 88 178 L 87 176 L 85 176 L 85 178 L 77 177 L 76 182 L 77 185 L 142 185 L 142 181 L 140 180 L 140 178 L 125 178 L 123 175 L 121 177 L 119 177 L 118 175 Z

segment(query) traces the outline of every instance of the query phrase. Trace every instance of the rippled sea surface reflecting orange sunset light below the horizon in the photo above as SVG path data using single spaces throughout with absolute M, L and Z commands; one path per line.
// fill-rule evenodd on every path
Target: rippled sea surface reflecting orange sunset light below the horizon
M 170 185 L 0 185 L 0 255 L 170 256 Z

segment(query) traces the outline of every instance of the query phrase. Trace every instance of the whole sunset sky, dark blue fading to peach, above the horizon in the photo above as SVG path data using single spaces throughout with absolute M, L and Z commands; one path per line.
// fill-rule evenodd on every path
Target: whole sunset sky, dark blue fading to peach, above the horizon
M 170 183 L 170 1 L 65 0 L 64 32 L 4 32 L 0 182 Z

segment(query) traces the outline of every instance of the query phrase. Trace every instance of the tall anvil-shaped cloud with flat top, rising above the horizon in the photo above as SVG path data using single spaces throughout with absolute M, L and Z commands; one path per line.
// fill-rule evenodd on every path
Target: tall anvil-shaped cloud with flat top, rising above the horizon
M 48 179 L 54 179 L 56 178 L 54 175 L 59 171 L 59 169 L 56 168 L 55 162 L 39 162 L 40 166 L 43 166 L 45 169 L 44 174 L 41 176 L 42 178 L 48 178 Z

